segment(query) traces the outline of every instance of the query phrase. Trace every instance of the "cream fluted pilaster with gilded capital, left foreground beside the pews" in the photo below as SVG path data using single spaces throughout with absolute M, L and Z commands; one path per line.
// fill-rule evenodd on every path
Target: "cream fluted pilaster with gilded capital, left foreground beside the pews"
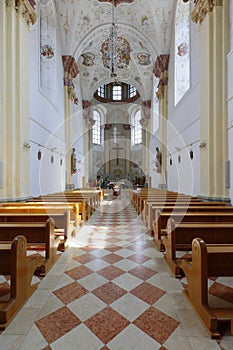
M 37 14 L 34 3 L 1 4 L 2 188 L 0 197 L 23 199 L 30 195 L 30 24 Z M 25 21 L 25 16 L 28 20 Z

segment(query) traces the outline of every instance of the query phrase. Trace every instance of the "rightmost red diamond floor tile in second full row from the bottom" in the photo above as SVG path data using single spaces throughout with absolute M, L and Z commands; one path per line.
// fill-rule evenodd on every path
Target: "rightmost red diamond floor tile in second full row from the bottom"
M 143 282 L 138 287 L 131 290 L 130 293 L 150 305 L 154 304 L 165 294 L 163 290 L 147 282 Z

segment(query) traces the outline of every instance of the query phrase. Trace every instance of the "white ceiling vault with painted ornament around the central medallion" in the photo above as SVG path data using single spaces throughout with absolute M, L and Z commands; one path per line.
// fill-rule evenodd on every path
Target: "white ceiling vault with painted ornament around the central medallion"
M 45 0 L 42 0 L 45 1 Z M 79 69 L 84 100 L 101 85 L 114 81 L 103 64 L 101 47 L 112 24 L 110 0 L 54 0 L 62 54 L 72 55 Z M 117 80 L 134 85 L 143 100 L 151 99 L 157 56 L 169 54 L 176 0 L 116 0 L 117 36 L 130 44 L 130 63 Z

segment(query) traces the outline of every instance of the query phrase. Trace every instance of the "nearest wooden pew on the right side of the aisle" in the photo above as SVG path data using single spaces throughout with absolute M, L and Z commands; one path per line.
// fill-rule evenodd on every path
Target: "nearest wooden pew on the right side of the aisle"
M 211 337 L 220 338 L 219 323 L 229 321 L 233 335 L 233 307 L 212 308 L 208 303 L 208 277 L 233 276 L 233 245 L 209 245 L 196 238 L 192 242 L 192 262 L 182 260 L 181 267 L 188 281 L 184 293 Z

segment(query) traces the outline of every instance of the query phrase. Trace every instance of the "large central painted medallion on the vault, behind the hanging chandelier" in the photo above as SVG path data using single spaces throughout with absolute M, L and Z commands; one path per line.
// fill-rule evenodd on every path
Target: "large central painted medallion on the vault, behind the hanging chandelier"
M 112 55 L 111 55 L 111 40 L 110 38 L 106 39 L 101 47 L 102 60 L 104 67 L 111 68 Z M 121 69 L 129 65 L 130 62 L 130 44 L 129 42 L 122 38 L 121 36 L 117 37 L 116 42 L 116 67 Z

